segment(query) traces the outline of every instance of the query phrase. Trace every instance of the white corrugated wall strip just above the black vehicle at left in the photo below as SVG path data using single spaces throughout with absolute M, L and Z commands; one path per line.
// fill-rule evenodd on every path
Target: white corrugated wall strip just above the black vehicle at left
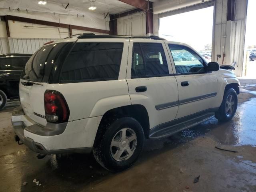
M 57 39 L 42 38 L 0 38 L 0 54 L 29 53 L 33 54 L 44 43 Z

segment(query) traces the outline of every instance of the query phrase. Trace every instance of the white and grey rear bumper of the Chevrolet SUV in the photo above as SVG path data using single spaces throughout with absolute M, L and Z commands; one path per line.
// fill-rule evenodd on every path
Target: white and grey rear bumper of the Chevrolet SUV
M 22 110 L 22 108 L 21 108 Z M 22 111 L 14 109 L 12 125 L 20 141 L 42 154 L 90 153 L 101 120 L 100 117 L 40 126 Z

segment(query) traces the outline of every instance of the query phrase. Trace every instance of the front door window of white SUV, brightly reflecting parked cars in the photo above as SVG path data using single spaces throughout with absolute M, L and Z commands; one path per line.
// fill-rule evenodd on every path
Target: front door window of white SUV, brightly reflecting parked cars
M 168 44 L 174 60 L 176 74 L 205 73 L 204 61 L 192 49 L 176 44 Z

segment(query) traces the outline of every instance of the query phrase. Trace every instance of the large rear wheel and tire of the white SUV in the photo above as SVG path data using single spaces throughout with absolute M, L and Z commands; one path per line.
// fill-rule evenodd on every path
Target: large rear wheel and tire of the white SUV
M 94 144 L 93 154 L 102 167 L 118 172 L 136 162 L 143 145 L 144 132 L 140 123 L 134 118 L 122 117 L 108 126 L 102 138 Z

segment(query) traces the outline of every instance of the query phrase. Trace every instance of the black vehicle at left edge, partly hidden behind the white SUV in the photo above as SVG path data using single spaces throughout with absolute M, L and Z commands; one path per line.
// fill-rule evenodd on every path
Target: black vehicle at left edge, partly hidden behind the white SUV
M 0 110 L 19 97 L 20 75 L 32 54 L 0 54 Z

